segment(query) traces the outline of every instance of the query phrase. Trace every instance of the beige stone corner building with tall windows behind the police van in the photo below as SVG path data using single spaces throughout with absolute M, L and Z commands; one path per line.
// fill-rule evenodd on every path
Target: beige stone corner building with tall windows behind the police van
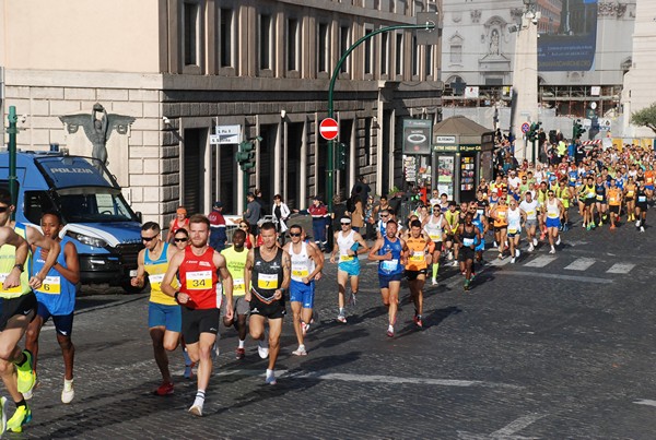
M 108 167 L 144 218 L 167 224 L 175 209 L 210 211 L 214 200 L 239 213 L 244 188 L 237 144 L 212 145 L 216 127 L 238 126 L 256 142 L 248 189 L 292 207 L 326 191 L 328 86 L 342 53 L 366 34 L 417 23 L 426 0 L 0 0 L 2 118 L 19 115 L 19 147 L 51 143 L 90 155 L 82 130 L 59 117 L 133 117 L 107 140 Z M 56 24 L 56 25 L 54 25 Z M 358 175 L 374 192 L 400 181 L 400 134 L 409 116 L 437 121 L 443 85 L 440 45 L 395 29 L 363 41 L 343 62 L 335 88 L 345 194 Z

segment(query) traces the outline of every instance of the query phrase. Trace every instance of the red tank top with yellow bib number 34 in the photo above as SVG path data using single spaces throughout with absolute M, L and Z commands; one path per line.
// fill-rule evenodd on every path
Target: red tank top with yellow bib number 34
M 185 249 L 185 260 L 178 270 L 180 292 L 191 298 L 185 305 L 189 309 L 216 309 L 221 304 L 221 284 L 213 260 L 214 249 L 208 248 L 196 255 L 191 247 Z

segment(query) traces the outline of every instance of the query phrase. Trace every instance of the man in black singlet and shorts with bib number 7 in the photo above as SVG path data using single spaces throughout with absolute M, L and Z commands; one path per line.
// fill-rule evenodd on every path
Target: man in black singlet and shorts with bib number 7
M 276 384 L 276 360 L 280 353 L 282 318 L 285 314 L 284 294 L 290 286 L 290 254 L 277 243 L 276 225 L 266 222 L 260 227 L 262 246 L 248 251 L 244 281 L 250 286 L 246 300 L 250 302 L 250 337 L 258 341 L 258 353 L 269 358 L 266 383 Z M 265 321 L 269 321 L 269 336 Z

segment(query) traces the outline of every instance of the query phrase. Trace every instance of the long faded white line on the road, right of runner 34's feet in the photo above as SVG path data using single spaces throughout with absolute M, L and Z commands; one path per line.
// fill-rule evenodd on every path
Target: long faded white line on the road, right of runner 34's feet
M 261 370 L 238 369 L 238 370 L 221 370 L 219 376 L 261 376 L 265 374 Z M 432 378 L 400 378 L 396 376 L 382 374 L 352 374 L 342 372 L 327 371 L 295 371 L 295 370 L 277 370 L 278 378 L 285 379 L 318 379 L 318 380 L 338 380 L 342 382 L 359 382 L 359 383 L 387 383 L 387 384 L 417 384 L 417 385 L 436 385 L 436 387 L 485 387 L 485 388 L 511 388 L 523 389 L 523 387 L 512 385 L 509 383 L 484 382 L 480 380 L 458 380 L 458 379 L 432 379 Z

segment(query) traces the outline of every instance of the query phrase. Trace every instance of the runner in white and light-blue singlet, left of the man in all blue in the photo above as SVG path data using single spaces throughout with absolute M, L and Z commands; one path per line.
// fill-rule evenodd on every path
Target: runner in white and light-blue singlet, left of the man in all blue
M 387 212 L 387 210 L 385 210 Z M 389 215 L 386 214 L 386 215 Z M 341 230 L 335 233 L 335 246 L 330 253 L 330 262 L 335 264 L 335 257 L 339 253 L 339 264 L 337 265 L 337 287 L 338 287 L 338 307 L 339 313 L 337 320 L 347 323 L 344 314 L 344 296 L 347 294 L 347 281 L 351 277 L 351 297 L 349 302 L 355 305 L 355 295 L 358 295 L 358 277 L 360 276 L 360 260 L 358 254 L 368 252 L 366 242 L 362 236 L 351 229 L 351 218 L 342 217 L 340 221 Z

